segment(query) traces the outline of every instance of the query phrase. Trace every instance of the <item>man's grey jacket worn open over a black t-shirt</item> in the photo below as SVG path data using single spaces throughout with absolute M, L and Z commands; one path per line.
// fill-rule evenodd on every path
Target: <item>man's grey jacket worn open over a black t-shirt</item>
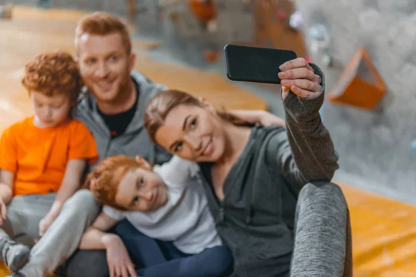
M 110 130 L 98 113 L 96 100 L 91 93 L 83 93 L 80 97 L 74 116 L 92 132 L 100 161 L 114 154 L 124 154 L 130 157 L 140 155 L 150 163 L 164 163 L 171 159 L 171 154 L 150 141 L 144 128 L 144 111 L 150 98 L 166 88 L 138 71 L 132 71 L 130 75 L 139 84 L 140 93 L 137 111 L 124 134 L 111 139 Z

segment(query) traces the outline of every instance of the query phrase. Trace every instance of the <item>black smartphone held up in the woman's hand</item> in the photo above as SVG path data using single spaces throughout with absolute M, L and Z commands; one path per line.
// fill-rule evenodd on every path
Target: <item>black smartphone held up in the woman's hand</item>
M 290 50 L 227 44 L 224 47 L 227 77 L 233 81 L 280 84 L 279 66 L 294 60 Z

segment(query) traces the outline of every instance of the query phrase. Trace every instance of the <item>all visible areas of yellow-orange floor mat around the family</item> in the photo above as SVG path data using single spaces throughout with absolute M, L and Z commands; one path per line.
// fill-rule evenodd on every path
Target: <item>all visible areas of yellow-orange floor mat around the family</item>
M 0 21 L 0 133 L 32 113 L 19 79 L 25 62 L 36 53 L 59 48 L 73 53 L 73 30 L 82 12 L 17 7 L 13 18 Z M 265 109 L 266 102 L 227 82 L 219 73 L 207 73 L 146 54 L 152 42 L 135 40 L 136 69 L 156 82 L 205 96 L 227 109 Z M 180 78 L 178 78 L 180 76 Z M 4 116 L 6 115 L 6 116 Z M 416 277 L 416 207 L 342 185 L 352 220 L 354 276 Z M 0 265 L 0 277 L 8 269 Z

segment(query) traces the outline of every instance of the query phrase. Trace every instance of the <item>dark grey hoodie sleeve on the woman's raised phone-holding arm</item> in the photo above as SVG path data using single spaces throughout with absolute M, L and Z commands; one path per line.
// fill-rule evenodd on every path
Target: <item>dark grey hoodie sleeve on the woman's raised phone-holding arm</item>
M 338 169 L 338 154 L 319 114 L 324 102 L 324 74 L 315 64 L 311 66 L 322 78 L 322 93 L 315 98 L 288 93 L 283 101 L 286 134 L 278 132 L 268 145 L 269 163 L 298 189 L 311 181 L 330 181 Z

